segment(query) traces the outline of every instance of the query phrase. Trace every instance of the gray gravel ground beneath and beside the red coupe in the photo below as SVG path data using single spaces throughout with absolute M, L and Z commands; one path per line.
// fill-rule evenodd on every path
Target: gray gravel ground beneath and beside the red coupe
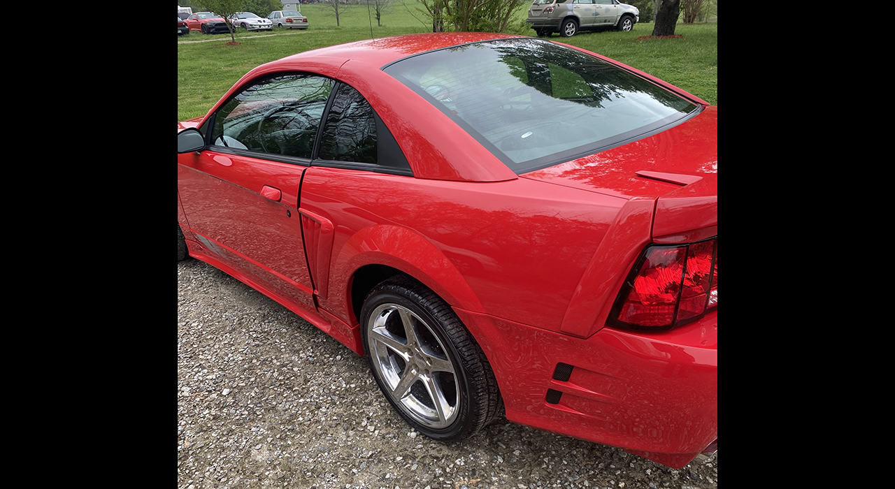
M 198 260 L 177 264 L 177 486 L 708 488 L 679 470 L 501 420 L 461 443 L 417 434 L 358 357 Z

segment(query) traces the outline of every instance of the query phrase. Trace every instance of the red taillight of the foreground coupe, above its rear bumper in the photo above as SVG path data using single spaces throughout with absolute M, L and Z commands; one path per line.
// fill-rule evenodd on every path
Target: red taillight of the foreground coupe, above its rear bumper
M 618 293 L 609 325 L 663 331 L 718 307 L 718 237 L 651 245 Z

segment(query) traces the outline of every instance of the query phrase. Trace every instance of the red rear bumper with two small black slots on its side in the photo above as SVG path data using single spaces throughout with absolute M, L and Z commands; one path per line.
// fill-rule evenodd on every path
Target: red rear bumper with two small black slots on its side
M 717 312 L 666 333 L 606 327 L 580 339 L 455 310 L 488 356 L 510 421 L 672 468 L 718 438 Z

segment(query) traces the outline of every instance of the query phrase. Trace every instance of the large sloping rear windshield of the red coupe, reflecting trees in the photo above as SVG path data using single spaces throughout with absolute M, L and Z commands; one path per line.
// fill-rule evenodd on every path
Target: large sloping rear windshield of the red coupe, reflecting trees
M 699 109 L 599 58 L 534 38 L 431 51 L 385 72 L 516 173 L 643 138 Z

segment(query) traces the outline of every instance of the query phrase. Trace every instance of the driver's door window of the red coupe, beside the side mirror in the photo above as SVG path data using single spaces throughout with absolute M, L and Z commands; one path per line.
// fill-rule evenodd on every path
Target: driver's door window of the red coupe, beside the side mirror
M 309 75 L 262 80 L 217 111 L 212 144 L 310 159 L 332 87 Z

